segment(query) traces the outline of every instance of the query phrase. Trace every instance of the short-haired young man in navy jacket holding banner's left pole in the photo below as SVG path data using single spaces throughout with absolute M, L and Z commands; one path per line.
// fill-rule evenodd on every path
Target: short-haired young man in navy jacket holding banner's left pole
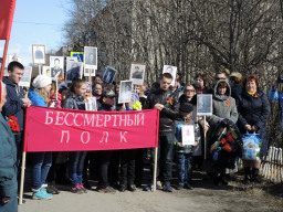
M 22 152 L 22 136 L 23 136 L 23 119 L 24 109 L 31 105 L 29 98 L 24 98 L 24 92 L 19 83 L 22 78 L 24 67 L 21 63 L 13 61 L 8 65 L 9 76 L 3 77 L 3 83 L 7 87 L 7 103 L 3 106 L 3 117 L 14 116 L 18 118 L 20 131 L 14 132 L 14 140 L 17 145 L 17 162 L 20 165 L 21 152 Z

